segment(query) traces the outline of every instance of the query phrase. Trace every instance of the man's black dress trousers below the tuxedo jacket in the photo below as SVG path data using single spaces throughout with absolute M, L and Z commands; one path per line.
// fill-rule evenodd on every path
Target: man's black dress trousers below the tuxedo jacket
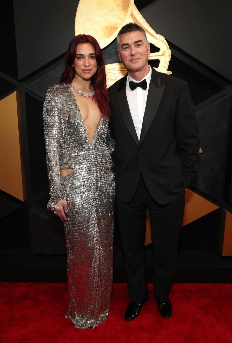
M 116 208 L 126 262 L 126 276 L 131 301 L 142 301 L 147 295 L 145 279 L 145 220 L 148 208 L 154 250 L 154 294 L 168 297 L 177 264 L 178 241 L 184 215 L 184 191 L 178 199 L 161 205 L 149 194 L 143 178 L 133 199 L 124 203 L 116 198 Z

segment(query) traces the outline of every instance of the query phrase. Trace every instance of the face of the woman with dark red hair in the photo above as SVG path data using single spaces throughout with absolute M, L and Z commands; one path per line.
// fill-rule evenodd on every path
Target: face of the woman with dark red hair
M 91 43 L 77 44 L 76 57 L 72 67 L 74 67 L 76 74 L 85 80 L 91 79 L 96 73 L 96 54 Z

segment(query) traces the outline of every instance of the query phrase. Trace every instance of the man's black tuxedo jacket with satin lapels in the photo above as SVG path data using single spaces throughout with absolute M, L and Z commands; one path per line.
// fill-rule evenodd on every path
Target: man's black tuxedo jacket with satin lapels
M 155 201 L 166 204 L 189 187 L 197 168 L 199 138 L 185 81 L 152 68 L 140 140 L 126 98 L 127 74 L 109 88 L 110 134 L 116 197 L 129 202 L 142 174 Z

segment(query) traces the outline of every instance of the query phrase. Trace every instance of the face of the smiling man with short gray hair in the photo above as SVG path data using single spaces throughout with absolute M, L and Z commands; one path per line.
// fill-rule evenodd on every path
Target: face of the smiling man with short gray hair
M 147 45 L 140 31 L 124 33 L 120 36 L 117 52 L 120 62 L 128 71 L 141 71 L 147 66 L 150 44 Z

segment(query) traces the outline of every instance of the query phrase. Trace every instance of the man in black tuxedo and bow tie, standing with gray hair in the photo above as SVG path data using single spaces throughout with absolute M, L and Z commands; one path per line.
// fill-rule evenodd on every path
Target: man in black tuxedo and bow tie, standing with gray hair
M 148 208 L 154 249 L 154 295 L 158 310 L 172 315 L 168 298 L 177 263 L 185 188 L 197 168 L 199 138 L 187 83 L 148 65 L 144 29 L 123 26 L 118 56 L 127 74 L 109 88 L 116 208 L 131 302 L 125 320 L 147 301 L 145 220 Z

